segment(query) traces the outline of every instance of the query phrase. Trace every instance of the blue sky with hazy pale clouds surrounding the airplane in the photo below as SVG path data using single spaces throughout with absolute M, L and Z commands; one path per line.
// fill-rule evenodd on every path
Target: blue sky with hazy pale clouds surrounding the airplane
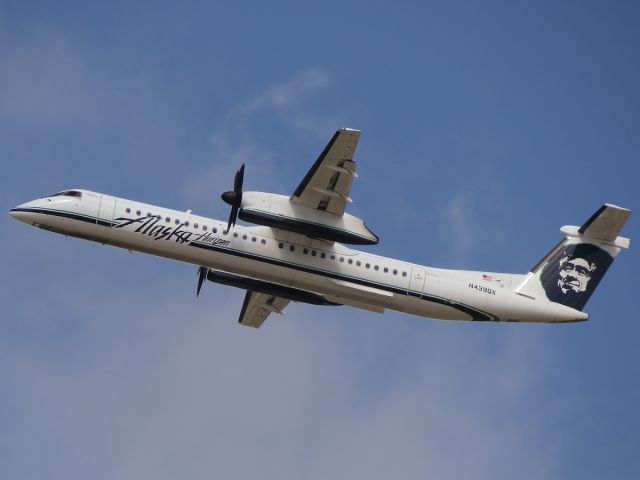
M 0 2 L 5 210 L 84 187 L 226 218 L 363 130 L 370 251 L 526 272 L 636 211 L 634 2 Z M 634 478 L 635 245 L 576 325 L 290 305 L 1 220 L 2 478 Z M 640 238 L 636 217 L 624 230 Z

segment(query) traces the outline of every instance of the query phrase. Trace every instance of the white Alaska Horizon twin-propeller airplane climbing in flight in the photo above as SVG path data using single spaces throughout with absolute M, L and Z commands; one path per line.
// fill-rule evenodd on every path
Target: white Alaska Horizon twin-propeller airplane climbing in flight
M 244 192 L 244 165 L 228 221 L 70 189 L 10 210 L 27 224 L 199 268 L 205 280 L 246 290 L 239 323 L 258 328 L 290 302 L 395 310 L 443 320 L 566 323 L 588 320 L 583 308 L 621 249 L 631 211 L 604 204 L 528 273 L 447 270 L 358 251 L 378 237 L 345 212 L 360 131 L 335 132 L 291 195 Z M 236 225 L 240 218 L 255 226 Z

